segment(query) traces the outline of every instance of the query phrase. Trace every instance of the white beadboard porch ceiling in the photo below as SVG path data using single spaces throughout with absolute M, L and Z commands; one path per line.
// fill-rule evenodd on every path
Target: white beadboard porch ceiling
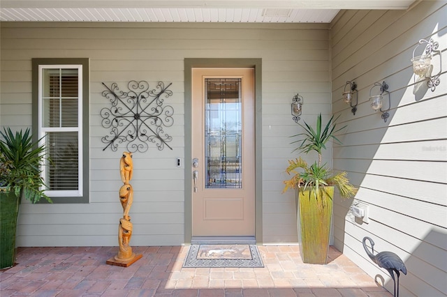
M 318 22 L 340 9 L 407 9 L 414 0 L 0 0 L 1 22 Z

